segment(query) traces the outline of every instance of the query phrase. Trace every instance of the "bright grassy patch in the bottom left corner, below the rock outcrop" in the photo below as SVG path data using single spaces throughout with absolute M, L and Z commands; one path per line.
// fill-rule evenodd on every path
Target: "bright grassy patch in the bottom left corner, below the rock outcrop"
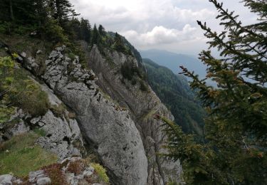
M 26 176 L 42 166 L 56 162 L 55 154 L 46 152 L 35 145 L 38 136 L 33 133 L 12 137 L 0 145 L 0 174 L 13 173 L 15 176 Z

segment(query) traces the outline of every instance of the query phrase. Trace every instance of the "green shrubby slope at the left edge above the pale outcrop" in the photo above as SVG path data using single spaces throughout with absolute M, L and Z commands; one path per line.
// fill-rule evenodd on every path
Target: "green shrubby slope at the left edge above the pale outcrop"
M 0 58 L 0 77 L 4 79 L 0 83 L 1 117 L 8 117 L 6 113 L 14 107 L 20 107 L 33 116 L 44 115 L 49 107 L 48 96 L 28 78 L 25 70 L 14 66 L 10 57 Z

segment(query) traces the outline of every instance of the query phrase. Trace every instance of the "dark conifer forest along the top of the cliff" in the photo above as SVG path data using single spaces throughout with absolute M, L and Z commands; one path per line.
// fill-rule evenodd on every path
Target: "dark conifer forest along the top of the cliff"
M 52 47 L 66 45 L 81 60 L 80 40 L 90 47 L 96 44 L 104 56 L 104 49 L 108 49 L 140 58 L 118 33 L 105 31 L 101 24 L 91 26 L 88 19 L 78 18 L 78 15 L 68 0 L 2 0 L 0 33 L 38 38 L 51 43 Z

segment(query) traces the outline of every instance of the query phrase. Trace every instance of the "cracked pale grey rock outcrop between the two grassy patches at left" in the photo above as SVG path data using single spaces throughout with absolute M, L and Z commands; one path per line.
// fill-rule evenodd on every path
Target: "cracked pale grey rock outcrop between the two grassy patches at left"
M 32 80 L 34 80 L 32 78 Z M 70 112 L 63 106 L 63 102 L 54 95 L 46 85 L 41 85 L 36 80 L 36 84 L 41 86 L 42 90 L 48 95 L 51 110 L 40 117 L 32 117 L 21 109 L 17 109 L 15 114 L 9 120 L 9 123 L 0 128 L 0 142 L 19 134 L 29 132 L 31 129 L 40 130 L 42 136 L 36 141 L 44 149 L 58 155 L 62 160 L 73 155 L 81 156 L 85 151 L 83 147 L 83 138 L 80 133 L 78 122 L 69 117 Z M 55 109 L 60 109 L 61 115 L 56 115 Z

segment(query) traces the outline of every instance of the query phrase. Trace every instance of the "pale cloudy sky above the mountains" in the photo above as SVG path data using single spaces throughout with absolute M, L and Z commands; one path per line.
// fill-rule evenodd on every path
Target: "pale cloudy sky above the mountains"
M 214 31 L 223 31 L 216 21 L 217 11 L 209 0 L 70 0 L 80 17 L 106 31 L 125 36 L 138 50 L 160 49 L 192 56 L 207 48 L 197 20 Z M 241 0 L 219 0 L 229 11 L 239 14 L 244 24 L 254 23 Z

